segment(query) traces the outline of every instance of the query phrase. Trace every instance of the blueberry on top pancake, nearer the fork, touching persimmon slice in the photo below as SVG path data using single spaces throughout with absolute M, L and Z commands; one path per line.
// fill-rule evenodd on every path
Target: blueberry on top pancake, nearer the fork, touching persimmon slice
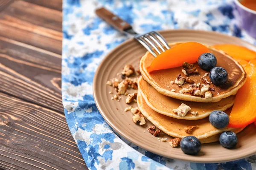
M 210 71 L 215 68 L 217 64 L 217 59 L 212 53 L 204 53 L 198 57 L 198 65 L 206 71 Z

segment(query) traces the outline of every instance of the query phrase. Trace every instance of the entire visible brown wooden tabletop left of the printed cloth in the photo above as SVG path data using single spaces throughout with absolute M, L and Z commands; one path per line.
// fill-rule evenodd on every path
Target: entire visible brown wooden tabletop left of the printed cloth
M 87 169 L 61 100 L 62 0 L 0 0 L 0 169 Z

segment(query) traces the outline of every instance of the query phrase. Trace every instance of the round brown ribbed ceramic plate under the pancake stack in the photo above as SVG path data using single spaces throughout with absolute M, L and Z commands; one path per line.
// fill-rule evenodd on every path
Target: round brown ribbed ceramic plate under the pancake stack
M 256 51 L 256 46 L 248 42 L 215 32 L 196 30 L 166 30 L 159 32 L 169 43 L 196 41 L 206 45 L 236 44 Z M 148 133 L 147 127 L 152 125 L 148 120 L 146 120 L 146 125 L 136 125 L 132 121 L 133 113 L 124 111 L 128 107 L 125 103 L 126 96 L 121 96 L 120 102 L 111 100 L 113 94 L 108 92 L 114 92 L 114 90 L 111 86 L 106 85 L 106 82 L 117 77 L 116 74 L 122 71 L 125 64 L 131 64 L 138 69 L 140 58 L 145 52 L 145 48 L 136 40 L 125 41 L 105 57 L 95 73 L 93 96 L 96 105 L 103 118 L 116 132 L 145 150 L 164 157 L 184 161 L 201 163 L 224 162 L 256 154 L 256 127 L 253 124 L 247 126 L 238 134 L 239 144 L 235 149 L 229 150 L 221 147 L 218 142 L 203 144 L 200 153 L 196 156 L 186 155 L 181 151 L 180 147 L 172 148 L 168 142 L 159 142 L 157 137 Z M 137 103 L 132 105 L 136 107 Z M 170 136 L 163 134 L 160 138 L 168 138 L 169 140 Z

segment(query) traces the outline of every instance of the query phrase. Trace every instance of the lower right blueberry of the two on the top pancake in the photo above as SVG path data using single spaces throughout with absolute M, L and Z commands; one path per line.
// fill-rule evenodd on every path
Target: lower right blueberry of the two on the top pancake
M 210 80 L 215 85 L 224 85 L 227 82 L 227 71 L 222 67 L 212 68 L 209 74 Z

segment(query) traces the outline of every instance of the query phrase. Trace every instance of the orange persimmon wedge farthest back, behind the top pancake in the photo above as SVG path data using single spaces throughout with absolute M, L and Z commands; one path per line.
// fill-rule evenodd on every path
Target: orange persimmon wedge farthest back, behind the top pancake
M 251 59 L 256 59 L 256 52 L 243 46 L 232 45 L 232 44 L 221 44 L 221 45 L 213 45 L 213 47 L 226 52 L 228 55 L 230 55 L 235 59 L 244 59 L 246 61 L 250 61 Z

